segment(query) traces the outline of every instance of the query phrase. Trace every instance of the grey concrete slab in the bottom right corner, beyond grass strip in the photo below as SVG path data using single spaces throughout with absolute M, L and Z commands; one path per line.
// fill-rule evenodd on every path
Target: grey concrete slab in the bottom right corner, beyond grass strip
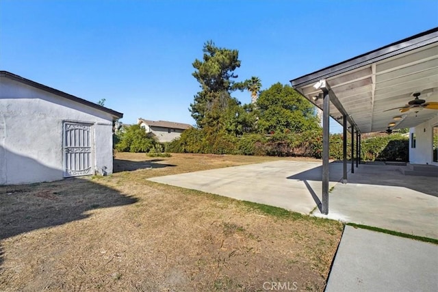
M 325 291 L 437 291 L 437 275 L 438 245 L 346 226 Z

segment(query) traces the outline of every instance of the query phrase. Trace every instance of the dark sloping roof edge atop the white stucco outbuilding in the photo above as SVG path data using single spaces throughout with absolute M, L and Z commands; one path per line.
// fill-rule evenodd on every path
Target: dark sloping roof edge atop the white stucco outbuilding
M 42 85 L 41 83 L 37 83 L 37 82 L 31 81 L 29 79 L 25 79 L 21 76 L 12 74 L 11 72 L 8 72 L 8 71 L 0 71 L 0 77 L 9 78 L 9 79 L 12 79 L 14 81 L 18 81 L 18 82 L 24 83 L 26 85 L 32 86 L 34 88 L 38 88 L 40 90 L 50 92 L 51 94 L 56 94 L 57 96 L 61 96 L 61 97 L 66 98 L 70 101 L 75 101 L 76 103 L 81 103 L 82 105 L 87 105 L 88 107 L 93 107 L 94 109 L 99 109 L 100 111 L 105 111 L 106 113 L 114 116 L 114 118 L 123 118 L 123 114 L 119 113 L 118 111 L 114 111 L 112 109 L 108 109 L 107 107 L 103 107 L 103 106 L 98 105 L 96 103 L 86 101 L 85 99 L 79 98 L 77 96 L 73 96 L 71 94 L 68 94 L 66 92 L 62 92 L 60 90 L 56 90 L 55 88 L 49 88 L 49 86 Z

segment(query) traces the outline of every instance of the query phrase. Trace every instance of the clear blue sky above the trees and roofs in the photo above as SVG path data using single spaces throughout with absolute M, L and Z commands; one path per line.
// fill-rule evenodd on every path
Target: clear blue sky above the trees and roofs
M 438 0 L 0 0 L 0 70 L 105 98 L 125 123 L 194 124 L 192 62 L 207 40 L 237 49 L 238 80 L 267 89 L 437 26 Z

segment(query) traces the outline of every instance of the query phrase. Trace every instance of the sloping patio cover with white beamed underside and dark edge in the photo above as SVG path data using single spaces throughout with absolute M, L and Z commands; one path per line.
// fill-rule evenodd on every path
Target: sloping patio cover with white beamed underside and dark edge
M 330 116 L 340 124 L 346 115 L 359 133 L 385 131 L 389 122 L 396 122 L 394 129 L 415 127 L 438 111 L 417 107 L 400 113 L 393 108 L 407 105 L 415 92 L 421 92 L 426 103 L 438 102 L 438 27 L 290 82 L 322 109 L 322 98 L 315 100 L 322 91 L 313 87 L 322 79 L 334 93 Z M 395 121 L 394 116 L 401 119 Z

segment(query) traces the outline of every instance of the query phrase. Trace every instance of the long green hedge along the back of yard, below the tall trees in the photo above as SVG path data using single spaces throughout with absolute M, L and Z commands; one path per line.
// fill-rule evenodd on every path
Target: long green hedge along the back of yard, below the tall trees
M 331 135 L 331 159 L 343 158 L 342 135 Z M 347 158 L 350 159 L 351 137 L 347 138 Z M 370 137 L 361 141 L 364 161 L 409 161 L 409 139 L 399 134 Z M 189 129 L 166 146 L 167 152 L 211 154 L 270 155 L 279 157 L 322 157 L 321 130 L 305 133 L 246 134 L 241 137 L 224 131 Z

